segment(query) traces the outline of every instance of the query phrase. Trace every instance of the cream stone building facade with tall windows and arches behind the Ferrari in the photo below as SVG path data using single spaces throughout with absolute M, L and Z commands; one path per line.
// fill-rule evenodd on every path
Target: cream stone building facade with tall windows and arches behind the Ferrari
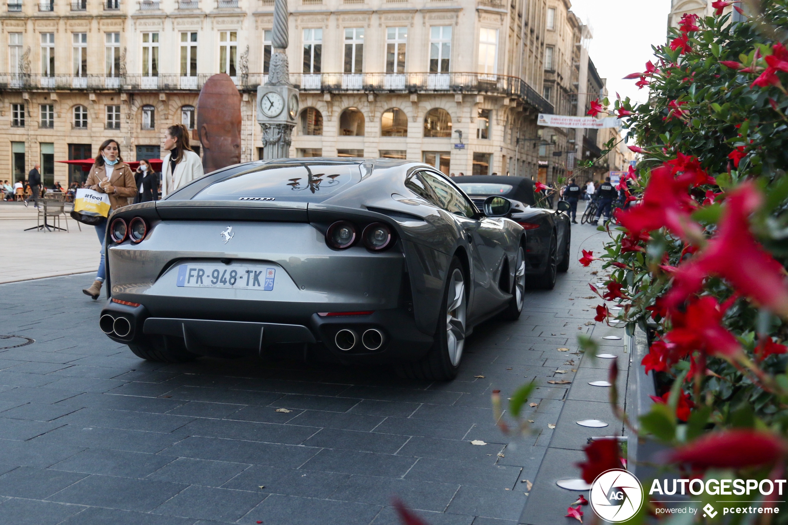
M 13 3 L 18 2 L 18 3 Z M 288 60 L 301 114 L 291 155 L 406 157 L 459 175 L 537 175 L 548 0 L 291 0 Z M 162 157 L 166 126 L 193 128 L 199 89 L 231 76 L 244 161 L 261 157 L 273 0 L 10 0 L 0 14 L 0 158 Z M 459 133 L 462 131 L 462 139 Z M 193 141 L 194 146 L 199 142 Z

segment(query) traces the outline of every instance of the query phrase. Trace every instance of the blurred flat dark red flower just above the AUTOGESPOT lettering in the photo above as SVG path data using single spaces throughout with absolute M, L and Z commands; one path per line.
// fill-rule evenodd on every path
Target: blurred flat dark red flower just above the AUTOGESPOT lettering
M 694 468 L 745 468 L 777 464 L 785 453 L 782 439 L 766 432 L 734 429 L 714 432 L 671 451 L 671 463 L 688 463 Z

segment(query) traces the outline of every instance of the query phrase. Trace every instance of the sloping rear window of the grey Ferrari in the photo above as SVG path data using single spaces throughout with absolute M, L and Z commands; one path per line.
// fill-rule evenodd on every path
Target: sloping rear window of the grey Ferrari
M 221 179 L 201 190 L 193 199 L 321 202 L 359 180 L 361 168 L 355 163 L 262 165 Z

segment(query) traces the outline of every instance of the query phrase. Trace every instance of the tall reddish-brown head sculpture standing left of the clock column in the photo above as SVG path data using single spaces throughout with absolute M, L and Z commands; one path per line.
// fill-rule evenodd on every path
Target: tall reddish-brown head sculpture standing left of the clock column
M 241 96 L 225 73 L 211 76 L 199 92 L 197 134 L 206 173 L 241 161 Z

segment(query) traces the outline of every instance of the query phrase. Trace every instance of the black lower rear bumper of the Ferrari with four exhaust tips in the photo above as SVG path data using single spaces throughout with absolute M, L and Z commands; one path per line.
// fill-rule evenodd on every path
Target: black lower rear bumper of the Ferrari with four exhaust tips
M 305 322 L 304 322 L 305 321 Z M 100 326 L 113 341 L 147 345 L 151 338 L 172 338 L 178 346 L 202 356 L 264 356 L 284 346 L 309 346 L 347 363 L 418 360 L 433 338 L 418 331 L 406 309 L 368 315 L 319 316 L 282 324 L 251 321 L 151 317 L 144 305 L 108 301 Z

